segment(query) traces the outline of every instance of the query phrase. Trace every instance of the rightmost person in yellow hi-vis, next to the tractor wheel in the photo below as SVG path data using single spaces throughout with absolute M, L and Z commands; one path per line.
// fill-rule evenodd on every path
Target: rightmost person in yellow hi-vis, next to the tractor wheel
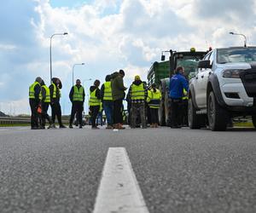
M 152 128 L 158 127 L 158 109 L 160 107 L 160 101 L 161 101 L 161 93 L 159 89 L 156 89 L 156 84 L 152 84 L 152 89 L 148 91 L 148 106 L 150 108 L 150 117 L 151 117 L 151 125 Z

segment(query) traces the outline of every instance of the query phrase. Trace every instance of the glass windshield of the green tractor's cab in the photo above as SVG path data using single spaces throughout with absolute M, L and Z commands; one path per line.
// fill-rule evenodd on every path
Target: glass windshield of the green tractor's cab
M 190 78 L 190 75 L 195 73 L 199 60 L 201 60 L 201 57 L 198 55 L 184 55 L 177 59 L 177 66 L 183 66 L 185 76 Z

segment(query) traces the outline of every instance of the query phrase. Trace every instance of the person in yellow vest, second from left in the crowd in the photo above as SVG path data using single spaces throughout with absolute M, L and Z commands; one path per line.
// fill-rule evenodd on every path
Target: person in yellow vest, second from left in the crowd
M 45 119 L 49 122 L 49 128 L 52 128 L 52 122 L 47 113 L 50 103 L 49 88 L 45 85 L 44 81 L 41 83 L 40 101 L 42 107 L 42 126 L 41 129 L 45 129 Z

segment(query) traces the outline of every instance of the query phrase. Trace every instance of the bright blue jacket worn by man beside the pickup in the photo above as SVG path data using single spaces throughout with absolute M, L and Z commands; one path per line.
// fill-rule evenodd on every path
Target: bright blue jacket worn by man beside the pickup
M 169 89 L 169 96 L 174 99 L 179 99 L 183 97 L 183 89 L 189 91 L 189 83 L 182 74 L 176 74 L 170 79 Z

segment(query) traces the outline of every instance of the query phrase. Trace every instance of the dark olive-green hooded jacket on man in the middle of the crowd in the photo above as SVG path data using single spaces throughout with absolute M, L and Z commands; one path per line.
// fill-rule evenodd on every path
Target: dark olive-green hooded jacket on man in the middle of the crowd
M 113 79 L 111 83 L 113 101 L 124 99 L 127 88 L 124 86 L 123 77 L 119 72 L 113 72 L 111 78 Z

